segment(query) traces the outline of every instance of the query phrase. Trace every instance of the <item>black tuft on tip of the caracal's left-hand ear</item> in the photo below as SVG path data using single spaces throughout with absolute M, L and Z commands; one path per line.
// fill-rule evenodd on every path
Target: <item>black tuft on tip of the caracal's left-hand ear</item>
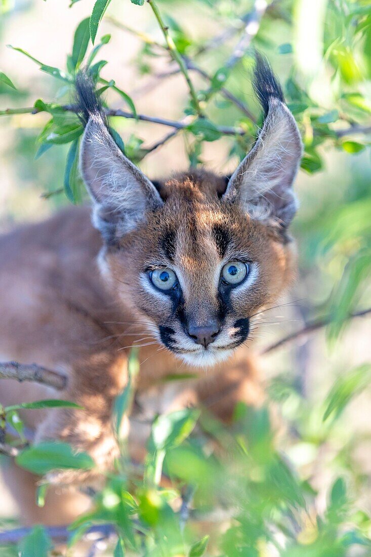
M 77 114 L 86 126 L 89 118 L 101 118 L 105 122 L 102 102 L 95 92 L 95 82 L 88 70 L 80 70 L 76 75 Z

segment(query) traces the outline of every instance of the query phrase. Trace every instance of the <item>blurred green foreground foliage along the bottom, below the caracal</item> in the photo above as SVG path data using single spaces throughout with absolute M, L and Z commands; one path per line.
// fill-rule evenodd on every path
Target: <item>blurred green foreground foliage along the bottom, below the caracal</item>
M 277 378 L 270 388 L 270 404 L 280 404 L 295 431 L 285 455 L 277 448 L 266 405 L 239 403 L 228 428 L 206 410 L 184 409 L 157 417 L 144 465 L 128 460 L 124 444 L 116 471 L 94 496 L 92 510 L 69 527 L 69 554 L 91 526 L 109 524 L 118 541 L 108 541 L 108 555 L 369 555 L 371 517 L 355 506 L 356 493 L 367 480 L 354 473 L 348 451 L 353 440 L 345 440 L 340 451 L 336 447 L 344 435 L 341 415 L 366 387 L 370 371 L 369 366 L 353 370 L 314 406 Z M 133 396 L 131 389 L 129 383 L 119 395 L 116 407 L 121 416 Z M 64 443 L 43 445 L 24 449 L 18 465 L 48 471 L 59 458 L 66 466 L 91 466 L 86 455 L 62 450 Z M 337 475 L 326 502 L 319 505 L 313 485 L 318 459 L 334 449 Z M 44 498 L 45 493 L 39 504 Z M 47 556 L 51 548 L 41 526 L 18 545 L 25 557 Z

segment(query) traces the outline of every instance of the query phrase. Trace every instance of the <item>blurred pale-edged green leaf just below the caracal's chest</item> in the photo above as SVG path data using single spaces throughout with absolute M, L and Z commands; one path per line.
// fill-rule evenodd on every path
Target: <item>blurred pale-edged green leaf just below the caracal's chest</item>
M 188 408 L 162 414 L 153 422 L 150 444 L 157 450 L 176 447 L 192 432 L 198 417 L 198 410 Z

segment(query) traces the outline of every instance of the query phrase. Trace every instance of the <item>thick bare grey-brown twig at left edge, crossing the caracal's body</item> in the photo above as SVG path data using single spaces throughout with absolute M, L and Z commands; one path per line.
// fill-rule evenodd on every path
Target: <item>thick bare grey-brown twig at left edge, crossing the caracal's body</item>
M 51 369 L 36 364 L 19 364 L 17 361 L 0 363 L 0 379 L 16 379 L 19 382 L 32 381 L 62 390 L 66 387 L 67 377 Z

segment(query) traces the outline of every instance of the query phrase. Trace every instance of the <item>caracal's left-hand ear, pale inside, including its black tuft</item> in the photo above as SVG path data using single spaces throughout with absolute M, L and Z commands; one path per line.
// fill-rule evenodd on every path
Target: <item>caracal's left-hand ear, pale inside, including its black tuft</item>
M 152 182 L 116 145 L 87 72 L 76 77 L 79 114 L 85 124 L 80 151 L 82 178 L 94 201 L 93 222 L 107 242 L 130 232 L 163 201 Z

